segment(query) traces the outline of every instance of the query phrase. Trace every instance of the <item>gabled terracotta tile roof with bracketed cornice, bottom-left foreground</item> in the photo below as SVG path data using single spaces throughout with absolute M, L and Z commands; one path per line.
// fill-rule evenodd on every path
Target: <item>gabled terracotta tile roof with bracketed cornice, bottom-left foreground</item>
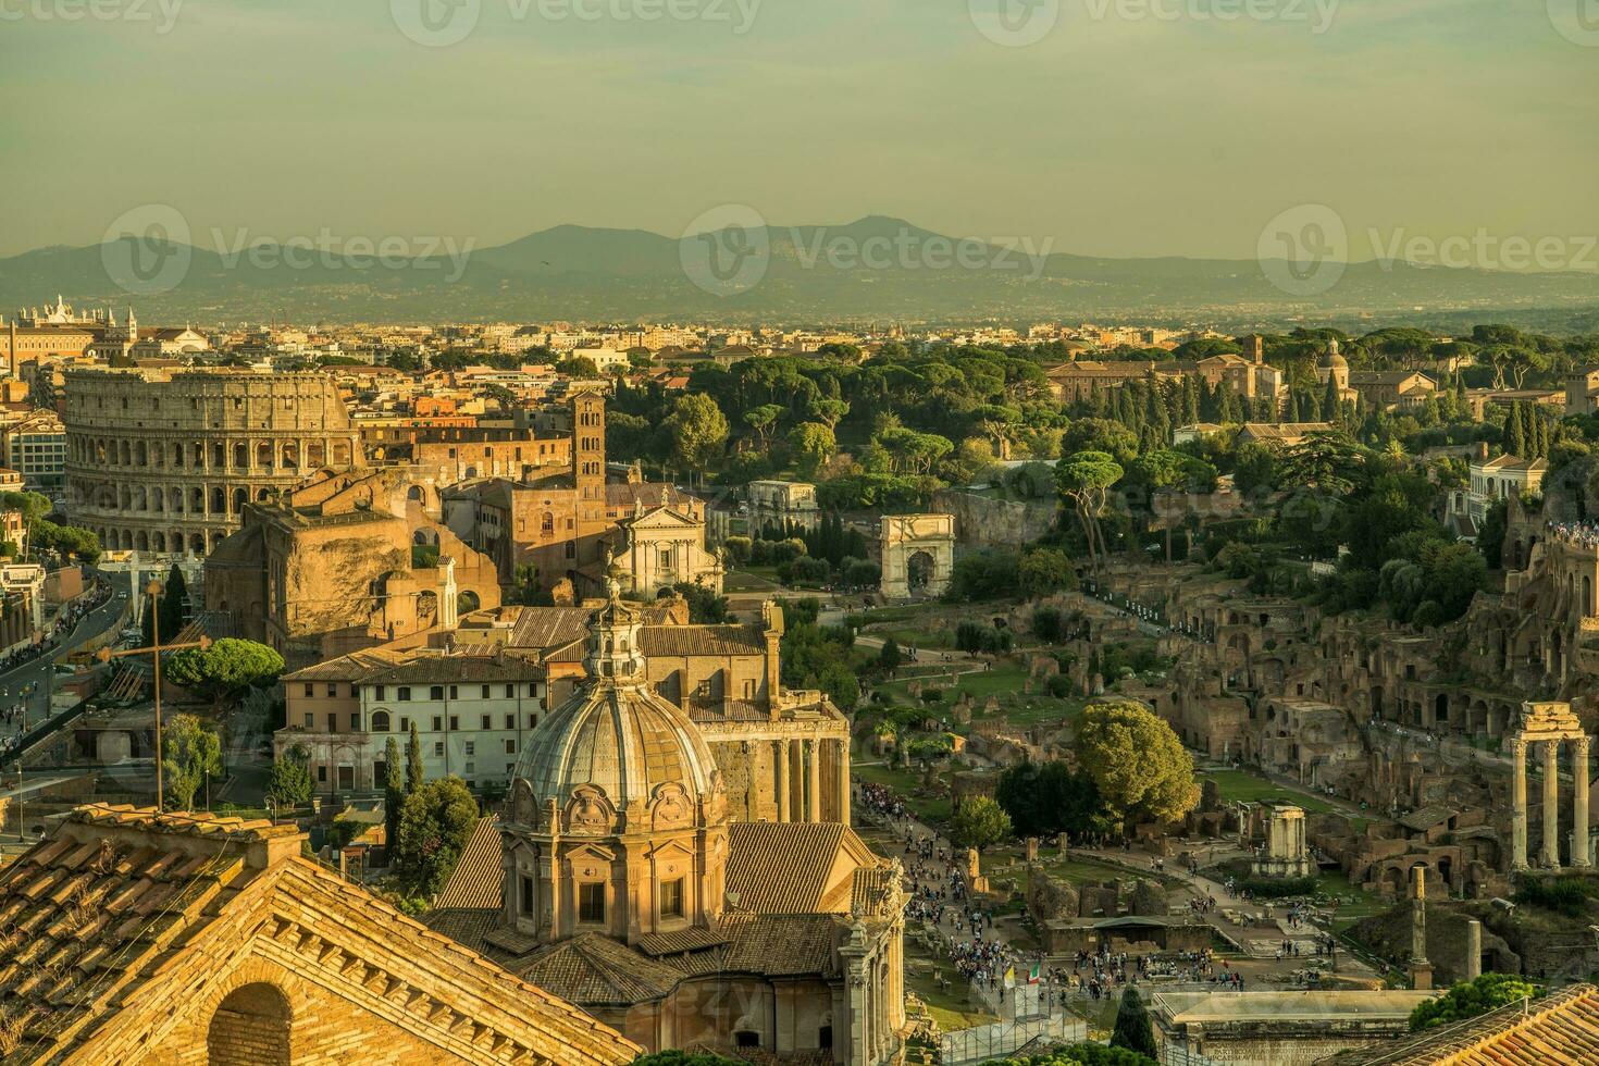
M 302 858 L 302 839 L 293 825 L 106 804 L 69 815 L 0 871 L 0 1004 L 16 1061 L 131 1061 L 205 1002 L 192 989 L 261 957 L 257 941 L 296 956 L 350 1010 L 392 1020 L 374 997 L 403 996 L 393 1024 L 440 1048 L 461 1053 L 462 1018 L 481 1026 L 465 1061 L 611 1066 L 640 1053 Z

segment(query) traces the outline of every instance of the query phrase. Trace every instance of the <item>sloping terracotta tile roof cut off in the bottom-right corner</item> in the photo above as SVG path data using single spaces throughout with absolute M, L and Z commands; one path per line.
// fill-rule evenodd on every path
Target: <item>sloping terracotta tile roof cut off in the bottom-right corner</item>
M 1599 1063 L 1599 988 L 1573 984 L 1529 1005 L 1418 1032 L 1369 1066 L 1591 1066 Z

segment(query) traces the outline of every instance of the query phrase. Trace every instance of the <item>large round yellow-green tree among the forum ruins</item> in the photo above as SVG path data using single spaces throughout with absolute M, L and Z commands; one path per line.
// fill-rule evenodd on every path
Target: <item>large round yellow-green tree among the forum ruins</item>
M 1078 766 L 1122 823 L 1177 821 L 1199 802 L 1193 758 L 1138 703 L 1091 703 L 1078 724 Z

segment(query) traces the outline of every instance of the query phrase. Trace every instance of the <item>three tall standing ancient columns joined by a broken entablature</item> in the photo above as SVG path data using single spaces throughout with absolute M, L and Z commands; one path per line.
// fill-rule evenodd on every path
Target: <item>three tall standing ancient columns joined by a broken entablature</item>
M 1543 745 L 1543 850 L 1561 868 L 1561 743 L 1572 743 L 1572 866 L 1588 868 L 1588 734 L 1570 703 L 1522 703 L 1511 737 L 1511 869 L 1527 869 L 1527 745 Z

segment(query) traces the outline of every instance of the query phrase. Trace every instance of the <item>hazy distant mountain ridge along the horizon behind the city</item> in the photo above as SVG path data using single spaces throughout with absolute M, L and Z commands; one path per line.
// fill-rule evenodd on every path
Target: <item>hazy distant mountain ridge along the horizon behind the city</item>
M 120 286 L 107 262 L 120 270 L 126 246 L 40 248 L 0 259 L 0 308 L 10 313 L 61 292 L 80 307 L 131 304 L 152 323 L 1137 320 L 1286 328 L 1370 320 L 1452 328 L 1498 320 L 1599 329 L 1593 273 L 1362 262 L 1350 264 L 1326 292 L 1295 296 L 1266 276 L 1279 273 L 1273 264 L 1003 249 L 883 216 L 846 225 L 721 229 L 683 241 L 558 225 L 470 249 L 464 259 L 448 251 L 389 265 L 318 254 L 294 268 L 278 262 L 281 249 L 238 256 L 150 243 L 139 254 L 152 264 L 185 268 L 160 275 L 154 286 L 138 278 Z

